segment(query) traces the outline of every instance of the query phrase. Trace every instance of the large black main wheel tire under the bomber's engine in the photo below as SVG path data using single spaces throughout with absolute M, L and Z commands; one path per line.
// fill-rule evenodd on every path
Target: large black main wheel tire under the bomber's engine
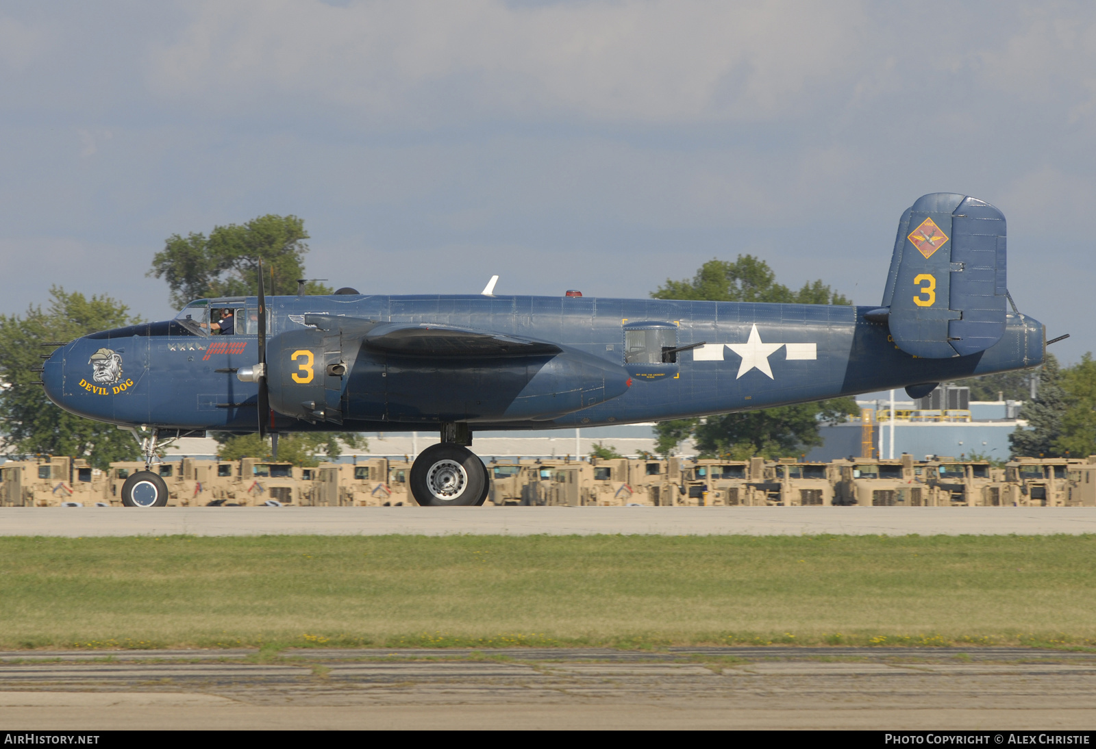
M 411 496 L 424 507 L 472 507 L 487 498 L 487 470 L 459 445 L 432 445 L 411 465 Z

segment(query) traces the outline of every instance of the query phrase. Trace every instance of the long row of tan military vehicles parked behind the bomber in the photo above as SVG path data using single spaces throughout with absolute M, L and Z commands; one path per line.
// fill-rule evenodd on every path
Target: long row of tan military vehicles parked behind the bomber
M 292 463 L 184 458 L 152 468 L 178 507 L 399 507 L 415 505 L 412 462 Z M 486 506 L 648 507 L 1096 507 L 1096 456 L 1017 458 L 1004 468 L 936 457 L 914 461 L 792 459 L 515 459 L 487 464 Z M 119 506 L 145 463 L 42 456 L 0 463 L 0 506 Z

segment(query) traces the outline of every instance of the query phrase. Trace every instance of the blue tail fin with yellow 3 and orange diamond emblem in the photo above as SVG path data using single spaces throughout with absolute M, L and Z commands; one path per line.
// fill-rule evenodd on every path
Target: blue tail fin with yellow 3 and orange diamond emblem
M 902 215 L 883 293 L 899 348 L 944 359 L 1001 341 L 1008 297 L 1005 235 L 1000 210 L 956 193 L 925 195 Z

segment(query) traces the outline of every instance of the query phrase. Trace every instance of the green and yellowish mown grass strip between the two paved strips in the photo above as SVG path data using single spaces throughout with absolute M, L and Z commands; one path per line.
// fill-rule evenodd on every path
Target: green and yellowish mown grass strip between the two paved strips
M 0 647 L 1096 645 L 1096 535 L 2 538 Z

